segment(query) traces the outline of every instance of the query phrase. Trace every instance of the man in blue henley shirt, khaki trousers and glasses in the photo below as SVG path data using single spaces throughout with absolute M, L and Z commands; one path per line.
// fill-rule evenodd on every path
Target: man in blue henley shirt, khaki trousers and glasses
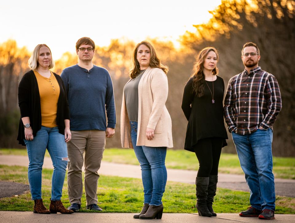
M 79 39 L 76 43 L 78 64 L 65 68 L 61 73 L 71 113 L 72 140 L 68 143 L 68 193 L 71 205 L 68 209 L 73 211 L 81 208 L 84 162 L 86 209 L 102 211 L 97 205 L 98 170 L 105 137 L 112 138 L 116 127 L 112 79 L 105 68 L 92 64 L 94 50 L 94 42 L 89 37 Z

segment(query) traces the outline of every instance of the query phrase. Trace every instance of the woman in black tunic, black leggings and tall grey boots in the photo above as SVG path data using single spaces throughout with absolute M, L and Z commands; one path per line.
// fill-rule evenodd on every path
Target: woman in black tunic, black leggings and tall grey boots
M 184 149 L 199 160 L 196 177 L 196 208 L 200 216 L 216 216 L 212 208 L 218 181 L 221 148 L 227 133 L 223 122 L 224 82 L 216 67 L 218 52 L 202 49 L 196 57 L 191 78 L 184 87 L 182 109 L 188 120 Z

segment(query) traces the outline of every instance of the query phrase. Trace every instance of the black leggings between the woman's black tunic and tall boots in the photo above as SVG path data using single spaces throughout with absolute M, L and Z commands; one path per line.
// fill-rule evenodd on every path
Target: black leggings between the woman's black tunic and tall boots
M 199 160 L 197 177 L 218 175 L 218 164 L 223 140 L 223 138 L 218 137 L 200 139 L 194 146 L 196 156 Z

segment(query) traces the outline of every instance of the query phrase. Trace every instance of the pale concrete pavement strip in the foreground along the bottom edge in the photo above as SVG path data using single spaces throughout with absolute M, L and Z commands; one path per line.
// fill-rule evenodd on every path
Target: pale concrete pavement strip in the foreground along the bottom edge
M 276 214 L 276 219 L 271 223 L 295 222 L 295 215 Z M 161 223 L 237 223 L 237 222 L 262 222 L 258 217 L 240 217 L 238 214 L 218 213 L 217 217 L 200 217 L 196 214 L 163 213 L 161 220 L 134 219 L 133 213 L 73 213 L 73 214 L 34 214 L 33 212 L 0 211 L 0 222 L 99 222 L 99 223 L 128 223 L 128 222 L 161 222 Z

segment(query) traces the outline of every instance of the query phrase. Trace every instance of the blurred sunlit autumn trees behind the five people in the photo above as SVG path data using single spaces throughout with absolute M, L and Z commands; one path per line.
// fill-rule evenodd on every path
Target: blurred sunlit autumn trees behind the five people
M 194 25 L 195 32 L 180 33 L 179 49 L 175 49 L 170 41 L 147 39 L 155 46 L 162 63 L 170 68 L 167 74 L 169 95 L 166 105 L 172 118 L 173 149 L 182 149 L 184 145 L 187 120 L 181 110 L 181 100 L 196 53 L 206 46 L 218 49 L 219 75 L 224 79 L 226 88 L 230 77 L 244 70 L 241 61 L 243 44 L 253 41 L 260 49 L 259 65 L 276 76 L 281 90 L 283 108 L 274 125 L 273 155 L 295 156 L 294 11 L 295 1 L 292 0 L 222 1 L 210 12 L 212 18 L 208 23 Z M 115 39 L 109 46 L 96 46 L 95 49 L 93 63 L 108 69 L 115 92 L 116 134 L 107 141 L 107 147 L 121 147 L 122 92 L 129 79 L 135 45 L 128 39 Z M 22 75 L 29 70 L 27 61 L 30 54 L 26 47 L 19 48 L 14 40 L 0 44 L 0 147 L 20 147 L 16 141 L 19 121 L 17 91 Z M 55 62 L 53 71 L 60 74 L 63 68 L 77 63 L 77 55 L 65 52 Z M 223 151 L 235 153 L 230 134 L 228 143 L 229 146 Z

